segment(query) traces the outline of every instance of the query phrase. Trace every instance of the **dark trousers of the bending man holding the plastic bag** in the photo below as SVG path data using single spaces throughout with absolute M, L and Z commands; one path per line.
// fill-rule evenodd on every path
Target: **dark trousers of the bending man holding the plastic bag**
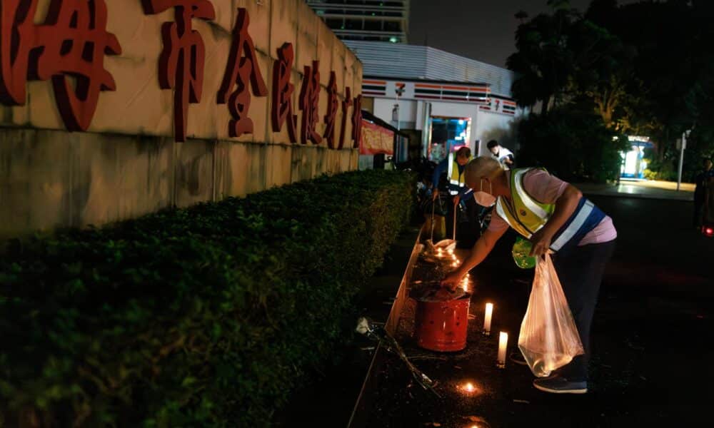
M 613 255 L 615 241 L 609 243 L 583 245 L 565 254 L 555 254 L 553 265 L 558 272 L 560 285 L 573 312 L 585 355 L 573 358 L 570 364 L 556 370 L 558 374 L 573 382 L 588 379 L 590 359 L 590 327 L 593 325 L 595 305 L 598 302 L 600 282 L 603 281 L 605 265 Z

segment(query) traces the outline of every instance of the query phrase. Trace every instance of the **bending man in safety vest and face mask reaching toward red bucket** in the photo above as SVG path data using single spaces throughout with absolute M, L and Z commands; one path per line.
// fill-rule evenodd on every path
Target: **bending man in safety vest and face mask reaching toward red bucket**
M 455 287 L 461 278 L 491 253 L 509 227 L 531 241 L 531 255 L 554 252 L 553 265 L 568 299 L 585 355 L 555 370 L 533 385 L 545 392 L 582 394 L 588 391 L 590 325 L 605 265 L 615 250 L 613 220 L 580 190 L 540 168 L 503 170 L 491 156 L 466 165 L 466 184 L 476 202 L 496 205 L 488 226 L 460 267 L 442 284 Z

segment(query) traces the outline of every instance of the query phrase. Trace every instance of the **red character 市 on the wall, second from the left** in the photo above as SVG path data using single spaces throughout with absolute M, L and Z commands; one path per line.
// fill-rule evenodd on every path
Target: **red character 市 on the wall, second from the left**
M 174 138 L 186 141 L 188 103 L 201 102 L 206 46 L 193 31 L 193 19 L 216 19 L 209 0 L 142 0 L 146 14 L 161 14 L 174 8 L 175 22 L 161 26 L 164 51 L 159 58 L 159 84 L 174 89 Z

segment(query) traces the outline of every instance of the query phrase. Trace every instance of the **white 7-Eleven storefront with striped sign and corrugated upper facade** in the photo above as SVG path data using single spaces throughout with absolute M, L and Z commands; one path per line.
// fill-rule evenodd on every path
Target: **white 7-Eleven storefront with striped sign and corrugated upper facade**
M 517 151 L 513 73 L 427 46 L 346 41 L 363 63 L 363 108 L 411 139 L 408 158 L 438 162 L 468 146 L 475 156 L 496 140 Z

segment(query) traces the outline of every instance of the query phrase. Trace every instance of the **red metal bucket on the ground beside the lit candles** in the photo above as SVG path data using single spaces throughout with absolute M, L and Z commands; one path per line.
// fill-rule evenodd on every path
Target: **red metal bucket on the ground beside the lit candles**
M 456 300 L 428 302 L 416 300 L 416 343 L 426 350 L 461 351 L 466 347 L 468 306 L 471 295 Z

